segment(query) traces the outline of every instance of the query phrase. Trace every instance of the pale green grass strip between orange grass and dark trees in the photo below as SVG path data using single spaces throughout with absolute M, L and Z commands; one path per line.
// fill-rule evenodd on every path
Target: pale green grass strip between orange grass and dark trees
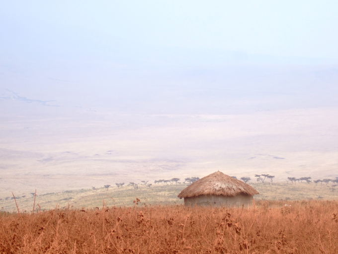
M 250 184 L 260 193 L 254 196 L 255 200 L 338 199 L 338 188 L 333 189 L 332 184 L 323 184 L 322 186 L 314 183 Z M 37 192 L 35 207 L 37 209 L 39 209 L 39 206 L 41 209 L 53 209 L 67 207 L 95 208 L 103 205 L 107 207 L 133 206 L 133 200 L 136 198 L 141 200 L 141 205 L 183 204 L 183 200 L 177 198 L 177 195 L 186 186 L 185 184 L 154 185 L 152 187 L 140 186 L 138 189 L 126 186 L 122 188 L 110 187 L 108 190 L 99 188 L 97 190 L 82 189 L 45 194 Z M 33 200 L 32 195 L 30 195 L 29 197 L 18 198 L 16 201 L 21 211 L 29 212 L 33 208 Z M 0 201 L 0 209 L 0 211 L 16 211 L 14 200 L 2 199 Z

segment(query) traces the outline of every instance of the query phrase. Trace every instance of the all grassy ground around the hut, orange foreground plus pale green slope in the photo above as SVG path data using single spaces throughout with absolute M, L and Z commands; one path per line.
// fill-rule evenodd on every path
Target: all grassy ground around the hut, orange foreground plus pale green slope
M 251 208 L 186 208 L 182 184 L 2 199 L 0 254 L 338 254 L 337 190 L 252 185 Z

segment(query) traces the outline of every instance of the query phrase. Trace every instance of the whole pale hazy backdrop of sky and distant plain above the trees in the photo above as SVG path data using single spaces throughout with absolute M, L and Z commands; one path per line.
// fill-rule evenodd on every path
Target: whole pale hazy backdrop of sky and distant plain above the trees
M 337 7 L 4 3 L 0 193 L 338 176 Z

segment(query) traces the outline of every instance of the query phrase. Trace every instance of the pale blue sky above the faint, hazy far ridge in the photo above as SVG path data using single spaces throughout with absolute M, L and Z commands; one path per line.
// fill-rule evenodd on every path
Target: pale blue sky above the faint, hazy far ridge
M 27 58 L 51 50 L 99 60 L 147 46 L 337 60 L 337 10 L 334 0 L 6 1 L 1 48 Z

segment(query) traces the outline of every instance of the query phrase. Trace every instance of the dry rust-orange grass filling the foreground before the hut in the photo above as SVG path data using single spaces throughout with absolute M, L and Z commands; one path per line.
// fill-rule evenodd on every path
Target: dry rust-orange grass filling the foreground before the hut
M 0 215 L 1 254 L 337 254 L 338 202 Z

